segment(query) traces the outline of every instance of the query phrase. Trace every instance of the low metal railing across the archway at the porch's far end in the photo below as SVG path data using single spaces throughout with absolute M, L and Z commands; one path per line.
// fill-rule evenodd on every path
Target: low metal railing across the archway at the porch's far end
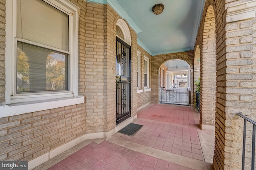
M 189 90 L 185 89 L 170 89 L 159 90 L 159 102 L 170 104 L 185 104 L 189 105 Z

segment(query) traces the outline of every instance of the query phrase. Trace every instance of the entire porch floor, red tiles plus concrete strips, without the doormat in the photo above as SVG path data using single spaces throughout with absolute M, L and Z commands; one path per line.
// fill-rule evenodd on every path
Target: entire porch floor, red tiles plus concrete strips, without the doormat
M 152 104 L 132 122 L 143 125 L 134 136 L 86 140 L 35 170 L 210 170 L 214 131 L 199 118 L 191 106 Z

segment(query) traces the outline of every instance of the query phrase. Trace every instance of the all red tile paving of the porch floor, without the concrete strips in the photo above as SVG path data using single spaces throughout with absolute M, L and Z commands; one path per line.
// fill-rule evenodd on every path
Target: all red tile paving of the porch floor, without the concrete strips
M 112 138 L 200 162 L 204 155 L 198 121 L 194 120 L 193 107 L 152 104 L 134 120 L 143 125 L 134 136 L 115 133 Z M 120 145 L 108 140 L 92 142 L 48 170 L 192 170 Z

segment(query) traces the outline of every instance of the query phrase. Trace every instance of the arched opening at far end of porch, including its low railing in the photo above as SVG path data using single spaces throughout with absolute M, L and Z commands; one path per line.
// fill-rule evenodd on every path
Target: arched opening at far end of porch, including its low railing
M 159 102 L 170 104 L 190 104 L 190 65 L 174 59 L 161 64 L 159 76 Z

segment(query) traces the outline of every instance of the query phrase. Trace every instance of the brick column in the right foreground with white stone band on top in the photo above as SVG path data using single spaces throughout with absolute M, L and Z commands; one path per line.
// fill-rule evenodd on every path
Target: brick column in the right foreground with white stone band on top
M 253 0 L 228 7 L 223 17 L 226 44 L 217 59 L 215 169 L 241 169 L 243 119 L 235 113 L 255 120 L 255 12 Z M 250 150 L 246 151 L 246 164 L 245 169 L 250 169 Z

